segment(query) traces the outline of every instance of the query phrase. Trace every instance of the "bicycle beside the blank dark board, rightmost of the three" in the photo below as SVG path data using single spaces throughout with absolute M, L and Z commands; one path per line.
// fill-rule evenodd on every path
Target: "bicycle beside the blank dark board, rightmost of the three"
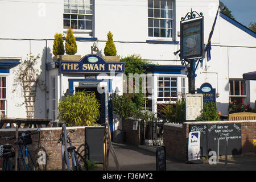
M 65 170 L 67 166 L 68 171 L 82 171 L 83 167 L 88 171 L 88 163 L 84 157 L 76 151 L 76 147 L 73 146 L 71 139 L 68 137 L 69 134 L 74 133 L 76 130 L 71 130 L 66 134 L 66 128 L 63 124 L 60 138 L 57 143 L 61 142 L 61 159 L 62 169 Z M 70 147 L 67 147 L 67 143 Z M 69 159 L 72 161 L 72 168 L 69 165 Z

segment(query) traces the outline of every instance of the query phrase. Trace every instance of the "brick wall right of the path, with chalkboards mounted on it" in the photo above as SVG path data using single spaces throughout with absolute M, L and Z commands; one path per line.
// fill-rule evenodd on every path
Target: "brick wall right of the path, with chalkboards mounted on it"
M 253 146 L 253 139 L 256 139 L 256 121 L 232 121 L 232 122 L 197 122 L 197 124 L 214 123 L 241 123 L 241 146 L 242 154 L 256 154 L 256 147 Z M 166 146 L 166 154 L 176 159 L 187 160 L 189 125 L 192 122 L 185 122 L 182 125 L 166 123 L 164 125 L 163 140 Z M 194 122 L 195 124 L 195 122 Z

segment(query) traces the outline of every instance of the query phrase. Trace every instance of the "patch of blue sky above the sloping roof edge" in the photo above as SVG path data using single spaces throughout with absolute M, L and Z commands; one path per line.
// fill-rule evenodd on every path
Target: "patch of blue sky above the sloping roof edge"
M 220 0 L 237 20 L 237 22 L 248 26 L 256 22 L 256 0 Z

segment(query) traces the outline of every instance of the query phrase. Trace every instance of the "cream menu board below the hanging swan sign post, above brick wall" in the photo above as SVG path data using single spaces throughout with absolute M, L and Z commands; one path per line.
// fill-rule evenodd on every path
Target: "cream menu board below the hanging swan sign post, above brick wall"
M 203 109 L 203 94 L 186 94 L 186 120 L 195 121 Z

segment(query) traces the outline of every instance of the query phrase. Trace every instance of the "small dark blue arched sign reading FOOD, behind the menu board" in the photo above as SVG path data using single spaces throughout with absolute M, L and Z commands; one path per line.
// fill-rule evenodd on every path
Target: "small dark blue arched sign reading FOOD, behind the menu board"
M 197 89 L 197 93 L 203 94 L 203 102 L 216 102 L 216 89 L 212 88 L 212 85 L 205 82 L 200 86 L 200 89 Z

